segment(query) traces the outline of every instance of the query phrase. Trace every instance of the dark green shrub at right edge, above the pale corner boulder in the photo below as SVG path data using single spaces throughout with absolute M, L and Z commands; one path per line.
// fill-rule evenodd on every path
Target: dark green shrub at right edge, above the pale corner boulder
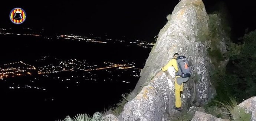
M 229 47 L 230 65 L 226 68 L 227 73 L 221 75 L 224 80 L 219 81 L 217 87 L 219 90 L 229 88 L 230 94 L 239 101 L 256 95 L 256 31 L 245 34 L 242 40 L 243 44 Z

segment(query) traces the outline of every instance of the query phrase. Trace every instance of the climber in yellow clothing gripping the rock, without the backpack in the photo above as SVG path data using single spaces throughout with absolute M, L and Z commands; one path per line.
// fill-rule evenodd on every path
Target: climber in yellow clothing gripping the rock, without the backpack
M 183 83 L 188 81 L 189 76 L 181 77 L 178 73 L 178 64 L 177 64 L 177 57 L 180 57 L 178 53 L 175 53 L 173 55 L 173 59 L 171 59 L 161 70 L 167 71 L 170 67 L 174 67 L 175 69 L 175 82 L 174 82 L 174 88 L 175 88 L 175 110 L 181 111 L 181 93 L 183 92 Z M 171 74 L 170 74 L 171 75 Z

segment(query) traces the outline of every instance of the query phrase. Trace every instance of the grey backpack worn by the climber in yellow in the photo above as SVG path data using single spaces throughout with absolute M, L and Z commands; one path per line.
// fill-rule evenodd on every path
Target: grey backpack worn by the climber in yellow
M 188 64 L 187 58 L 185 56 L 178 56 L 176 58 L 178 65 L 178 74 L 180 77 L 186 78 L 191 76 L 191 68 Z

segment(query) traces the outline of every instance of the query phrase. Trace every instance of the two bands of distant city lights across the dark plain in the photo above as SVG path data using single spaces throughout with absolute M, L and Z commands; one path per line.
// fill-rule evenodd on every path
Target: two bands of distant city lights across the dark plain
M 152 48 L 155 43 L 141 41 L 141 40 L 125 40 L 125 38 L 121 39 L 110 39 L 104 37 L 91 37 L 90 36 L 81 36 L 75 33 L 72 34 L 58 34 L 55 37 L 47 37 L 42 36 L 42 31 L 40 33 L 31 32 L 32 28 L 23 28 L 25 29 L 24 33 L 10 33 L 11 28 L 0 28 L 1 35 L 12 35 L 12 36 L 35 36 L 43 39 L 58 39 L 61 41 L 80 41 L 79 43 L 91 42 L 91 43 L 122 43 L 122 45 L 126 46 L 140 46 L 140 48 Z M 43 30 L 43 29 L 42 29 Z M 95 36 L 95 35 L 93 35 Z M 118 46 L 118 45 L 117 45 Z M 37 60 L 34 60 L 30 64 L 23 61 L 17 61 L 13 63 L 7 63 L 4 65 L 0 65 L 0 80 L 1 81 L 9 81 L 13 77 L 21 78 L 28 77 L 26 84 L 23 85 L 8 85 L 9 89 L 20 89 L 20 88 L 28 88 L 28 89 L 36 89 L 36 90 L 49 90 L 47 87 L 43 87 L 38 84 L 40 81 L 44 80 L 54 80 L 59 83 L 68 83 L 74 84 L 75 86 L 81 85 L 82 81 L 111 81 L 111 83 L 115 81 L 119 81 L 120 83 L 130 83 L 132 79 L 129 78 L 138 78 L 140 77 L 141 68 L 136 68 L 135 65 L 138 62 L 132 60 L 122 60 L 120 63 L 112 63 L 112 62 L 102 62 L 102 63 L 90 63 L 86 60 L 79 60 L 76 58 L 73 59 L 58 59 L 51 58 L 56 63 L 52 63 L 49 61 L 49 56 L 42 56 Z M 48 63 L 49 61 L 49 63 Z M 47 62 L 47 63 L 45 63 Z M 35 67 L 35 66 L 36 67 Z M 101 77 L 101 74 L 106 74 Z M 128 76 L 129 78 L 124 78 Z M 15 82 L 16 83 L 16 82 Z M 41 83 L 41 82 L 40 82 Z M 68 87 L 69 86 L 69 87 Z M 7 87 L 7 88 L 8 88 Z M 65 85 L 63 88 L 73 88 L 72 85 Z M 70 89 L 69 89 L 70 90 Z M 51 99 L 53 100 L 53 99 Z

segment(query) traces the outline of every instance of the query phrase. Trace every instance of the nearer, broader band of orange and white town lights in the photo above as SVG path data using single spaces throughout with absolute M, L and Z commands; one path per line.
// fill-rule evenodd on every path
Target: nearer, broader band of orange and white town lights
M 35 60 L 36 63 L 45 63 L 49 56 Z M 23 61 L 14 63 L 8 63 L 0 66 L 0 79 L 8 81 L 14 77 L 32 76 L 36 75 L 37 78 L 32 78 L 29 83 L 34 83 L 40 80 L 41 77 L 51 78 L 59 81 L 75 81 L 78 85 L 81 81 L 121 81 L 122 83 L 130 83 L 131 80 L 124 80 L 122 77 L 127 74 L 131 77 L 139 78 L 141 68 L 135 68 L 135 61 L 128 63 L 123 61 L 123 64 L 115 64 L 111 62 L 103 62 L 99 64 L 90 64 L 86 60 L 78 59 L 54 59 L 53 63 L 42 65 L 41 67 L 35 67 L 34 65 L 26 64 Z M 69 73 L 67 73 L 69 72 Z M 72 73 L 73 72 L 73 73 Z M 61 76 L 69 75 L 68 77 Z M 104 78 L 100 78 L 102 74 Z M 35 88 L 39 90 L 46 90 L 45 87 L 39 87 L 35 85 L 17 85 L 13 84 L 9 87 L 10 89 L 15 88 Z M 68 86 L 67 86 L 68 88 Z

